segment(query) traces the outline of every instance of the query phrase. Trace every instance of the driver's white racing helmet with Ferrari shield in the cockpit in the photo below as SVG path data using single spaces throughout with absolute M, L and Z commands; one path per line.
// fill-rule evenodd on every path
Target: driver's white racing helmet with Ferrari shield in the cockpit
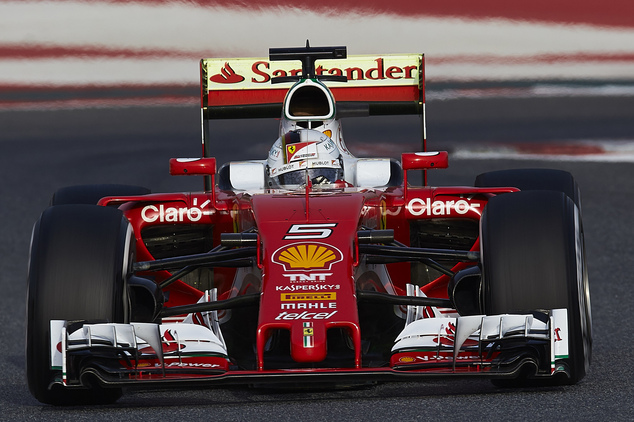
M 343 180 L 341 153 L 330 137 L 316 130 L 299 129 L 280 136 L 267 159 L 270 188 L 293 189 Z

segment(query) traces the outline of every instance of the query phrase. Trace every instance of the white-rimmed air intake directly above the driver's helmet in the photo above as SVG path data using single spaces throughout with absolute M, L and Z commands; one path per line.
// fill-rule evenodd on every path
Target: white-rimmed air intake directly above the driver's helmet
M 342 142 L 334 97 L 319 80 L 299 81 L 284 98 L 280 136 L 301 129 L 318 130 L 329 138 Z

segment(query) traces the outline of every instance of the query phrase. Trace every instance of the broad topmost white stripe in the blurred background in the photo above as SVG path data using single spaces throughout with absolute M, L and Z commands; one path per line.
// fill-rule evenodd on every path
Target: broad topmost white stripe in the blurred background
M 0 3 L 4 43 L 212 49 L 261 56 L 271 46 L 302 44 L 306 38 L 314 38 L 315 45 L 345 42 L 351 54 L 395 52 L 395 48 L 435 56 L 604 54 L 633 51 L 634 29 L 504 19 L 326 15 L 298 8 L 247 11 L 186 2 Z

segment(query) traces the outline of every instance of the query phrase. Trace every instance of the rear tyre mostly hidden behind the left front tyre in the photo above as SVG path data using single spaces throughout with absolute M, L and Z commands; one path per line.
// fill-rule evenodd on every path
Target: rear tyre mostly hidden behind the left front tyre
M 51 198 L 51 205 L 92 204 L 97 205 L 106 196 L 147 195 L 151 191 L 141 186 L 131 185 L 78 185 L 59 189 Z

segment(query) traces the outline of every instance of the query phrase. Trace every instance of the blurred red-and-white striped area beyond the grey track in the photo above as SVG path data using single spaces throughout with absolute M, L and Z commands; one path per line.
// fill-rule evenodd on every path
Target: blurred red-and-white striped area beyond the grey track
M 0 1 L 0 107 L 196 104 L 200 58 L 306 39 L 425 53 L 430 101 L 634 95 L 631 0 L 26 0 Z

